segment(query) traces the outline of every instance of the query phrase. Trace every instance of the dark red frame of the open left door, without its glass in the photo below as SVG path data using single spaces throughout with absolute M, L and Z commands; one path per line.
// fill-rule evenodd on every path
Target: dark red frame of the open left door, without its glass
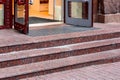
M 16 4 L 19 5 L 18 1 L 14 0 L 14 29 L 23 33 L 23 34 L 28 34 L 29 33 L 29 0 L 24 0 L 25 3 L 21 3 L 20 5 L 25 5 L 25 20 L 24 24 L 21 24 L 19 22 L 16 22 Z

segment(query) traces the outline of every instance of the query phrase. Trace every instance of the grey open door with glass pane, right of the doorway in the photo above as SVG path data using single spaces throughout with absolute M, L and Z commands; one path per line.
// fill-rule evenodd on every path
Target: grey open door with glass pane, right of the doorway
M 92 0 L 65 0 L 65 23 L 92 27 Z

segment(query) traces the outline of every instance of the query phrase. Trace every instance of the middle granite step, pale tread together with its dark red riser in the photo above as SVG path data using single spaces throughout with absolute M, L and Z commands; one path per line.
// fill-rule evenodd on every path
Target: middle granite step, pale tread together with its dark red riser
M 92 54 L 120 48 L 120 38 L 0 54 L 0 68 Z

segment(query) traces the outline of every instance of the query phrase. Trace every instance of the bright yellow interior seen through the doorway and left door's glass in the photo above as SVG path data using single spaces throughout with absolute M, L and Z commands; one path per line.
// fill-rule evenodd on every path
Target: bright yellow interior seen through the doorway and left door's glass
M 14 0 L 13 0 L 14 15 Z M 23 8 L 18 6 L 17 17 L 23 17 Z M 29 18 L 44 18 L 62 21 L 62 0 L 29 0 Z

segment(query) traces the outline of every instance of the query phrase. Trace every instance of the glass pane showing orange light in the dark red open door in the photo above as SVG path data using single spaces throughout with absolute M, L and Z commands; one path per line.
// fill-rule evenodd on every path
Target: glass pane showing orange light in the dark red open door
M 25 5 L 15 5 L 16 19 L 15 21 L 20 24 L 25 24 Z

